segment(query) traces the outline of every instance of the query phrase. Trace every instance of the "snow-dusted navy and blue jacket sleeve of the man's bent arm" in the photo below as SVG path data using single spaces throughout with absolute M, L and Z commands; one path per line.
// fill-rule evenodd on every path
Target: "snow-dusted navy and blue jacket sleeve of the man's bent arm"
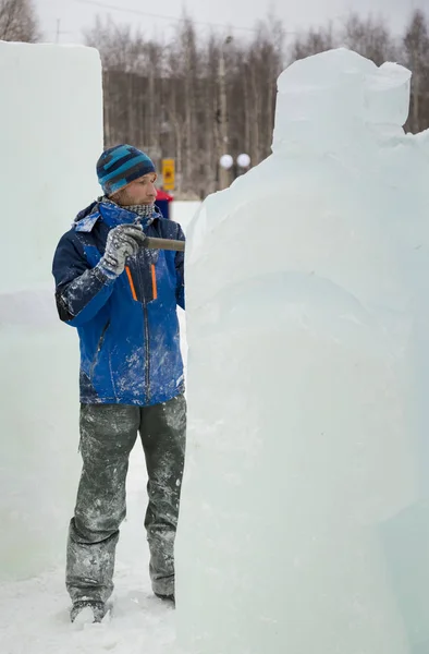
M 52 265 L 60 319 L 73 327 L 87 323 L 109 300 L 115 279 L 90 268 L 83 245 L 73 232 L 58 244 Z

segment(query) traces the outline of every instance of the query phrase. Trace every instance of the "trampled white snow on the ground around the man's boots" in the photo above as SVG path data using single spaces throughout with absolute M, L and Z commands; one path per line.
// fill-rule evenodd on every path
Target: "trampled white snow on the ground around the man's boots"
M 175 203 L 174 219 L 185 231 L 198 205 Z M 184 312 L 179 311 L 186 362 L 185 318 Z M 76 448 L 77 443 L 76 433 Z M 78 479 L 76 489 L 77 482 Z M 70 601 L 61 564 L 36 579 L 0 583 L 1 654 L 167 654 L 175 651 L 172 645 L 175 611 L 154 596 L 149 583 L 144 529 L 146 483 L 145 459 L 137 439 L 130 462 L 127 518 L 118 546 L 114 609 L 110 621 L 85 628 L 70 623 Z M 63 529 L 65 553 L 66 523 Z

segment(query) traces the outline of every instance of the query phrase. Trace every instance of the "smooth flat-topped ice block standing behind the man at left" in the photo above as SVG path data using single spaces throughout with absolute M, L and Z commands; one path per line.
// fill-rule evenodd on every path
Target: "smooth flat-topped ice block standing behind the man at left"
M 54 247 L 97 195 L 96 50 L 0 43 L 0 580 L 62 558 L 78 480 L 78 346 Z

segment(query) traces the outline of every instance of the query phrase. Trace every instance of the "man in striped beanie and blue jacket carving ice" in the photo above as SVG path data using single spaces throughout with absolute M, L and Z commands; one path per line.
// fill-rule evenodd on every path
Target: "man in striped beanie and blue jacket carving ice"
M 81 342 L 83 471 L 66 562 L 72 621 L 87 608 L 95 621 L 106 615 L 137 433 L 149 477 L 145 526 L 152 590 L 174 602 L 185 449 L 176 315 L 176 304 L 184 308 L 184 255 L 145 247 L 147 235 L 184 241 L 184 234 L 155 207 L 157 175 L 147 155 L 130 145 L 112 147 L 101 155 L 97 174 L 105 196 L 78 214 L 52 269 L 60 318 L 77 327 Z

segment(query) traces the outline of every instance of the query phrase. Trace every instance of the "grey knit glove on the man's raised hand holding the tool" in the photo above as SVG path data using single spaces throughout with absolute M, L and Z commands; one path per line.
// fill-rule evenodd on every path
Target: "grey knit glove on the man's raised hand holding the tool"
M 142 227 L 137 225 L 119 225 L 111 229 L 98 267 L 108 277 L 118 277 L 124 271 L 126 258 L 137 254 L 145 239 Z

